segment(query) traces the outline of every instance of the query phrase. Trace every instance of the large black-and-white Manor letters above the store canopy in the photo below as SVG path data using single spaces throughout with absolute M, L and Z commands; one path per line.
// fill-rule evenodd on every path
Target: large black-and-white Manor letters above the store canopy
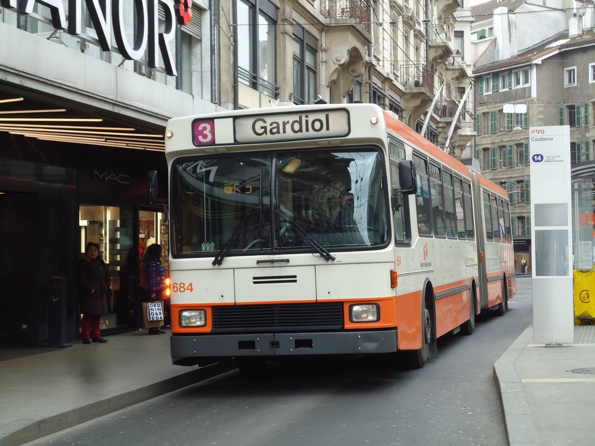
M 0 0 L 0 6 L 20 14 L 32 14 L 36 3 L 49 8 L 52 26 L 64 30 L 73 36 L 92 37 L 82 32 L 83 0 Z M 93 26 L 97 33 L 99 46 L 103 51 L 111 51 L 112 30 L 118 52 L 125 58 L 142 61 L 148 51 L 147 65 L 159 67 L 159 54 L 163 58 L 164 70 L 170 76 L 177 76 L 176 64 L 171 54 L 170 42 L 176 36 L 177 23 L 187 25 L 192 20 L 192 0 L 84 0 Z M 68 4 L 68 21 L 66 20 L 65 3 Z M 158 7 L 165 15 L 164 32 L 159 32 Z M 134 7 L 134 8 L 133 8 Z M 136 32 L 133 42 L 126 37 L 125 15 L 136 12 Z M 175 19 L 175 21 L 174 21 Z M 130 23 L 130 22 L 128 22 Z

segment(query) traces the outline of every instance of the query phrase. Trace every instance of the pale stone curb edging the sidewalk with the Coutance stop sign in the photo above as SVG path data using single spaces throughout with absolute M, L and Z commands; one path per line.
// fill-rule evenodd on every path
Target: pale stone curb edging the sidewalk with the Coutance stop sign
M 537 429 L 529 409 L 521 377 L 516 373 L 515 360 L 527 344 L 533 341 L 533 324 L 512 343 L 494 363 L 494 383 L 500 398 L 500 408 L 509 446 L 538 446 Z

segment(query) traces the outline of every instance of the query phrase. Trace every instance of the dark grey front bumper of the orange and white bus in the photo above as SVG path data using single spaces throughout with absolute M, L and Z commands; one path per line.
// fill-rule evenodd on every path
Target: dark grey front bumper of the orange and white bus
M 397 331 L 172 335 L 171 359 L 309 354 L 390 353 L 397 350 Z

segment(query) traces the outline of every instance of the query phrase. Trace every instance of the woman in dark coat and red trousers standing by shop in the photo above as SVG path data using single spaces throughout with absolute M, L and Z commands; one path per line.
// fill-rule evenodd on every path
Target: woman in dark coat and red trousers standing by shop
M 80 336 L 83 344 L 107 343 L 101 337 L 99 323 L 101 315 L 108 313 L 107 290 L 111 285 L 111 277 L 105 262 L 99 257 L 99 244 L 89 242 L 84 253 L 81 253 L 78 268 Z M 90 329 L 90 336 L 89 336 Z M 91 339 L 89 339 L 89 337 Z

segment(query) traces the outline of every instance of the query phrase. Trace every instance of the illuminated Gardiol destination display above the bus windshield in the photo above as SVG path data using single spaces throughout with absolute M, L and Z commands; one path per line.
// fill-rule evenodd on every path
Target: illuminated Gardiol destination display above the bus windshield
M 343 137 L 350 133 L 346 110 L 252 115 L 234 120 L 239 143 Z

